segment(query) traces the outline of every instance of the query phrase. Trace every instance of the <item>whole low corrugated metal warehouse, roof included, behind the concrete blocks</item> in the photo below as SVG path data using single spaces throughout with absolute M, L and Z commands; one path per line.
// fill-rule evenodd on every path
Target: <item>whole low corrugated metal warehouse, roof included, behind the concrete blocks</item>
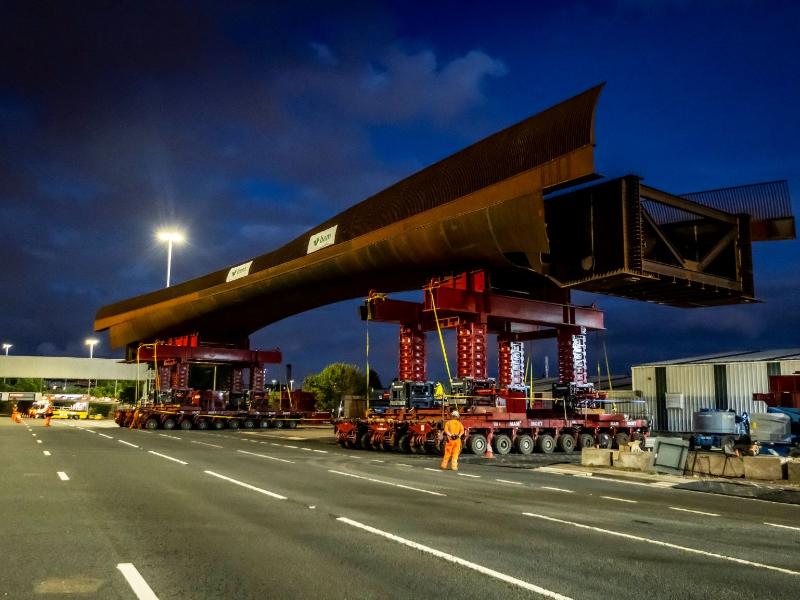
M 691 431 L 692 413 L 701 408 L 766 412 L 753 394 L 768 392 L 770 375 L 800 372 L 800 348 L 726 352 L 638 365 L 633 389 L 646 402 L 652 428 Z

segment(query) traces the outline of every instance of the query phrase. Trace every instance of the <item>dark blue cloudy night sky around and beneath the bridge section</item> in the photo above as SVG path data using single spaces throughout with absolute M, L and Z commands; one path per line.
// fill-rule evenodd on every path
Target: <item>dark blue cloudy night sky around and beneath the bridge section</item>
M 600 82 L 597 169 L 673 193 L 788 179 L 800 3 L 0 0 L 0 341 L 85 356 L 95 312 L 242 263 Z M 756 244 L 762 304 L 606 310 L 613 370 L 800 347 L 800 242 Z M 259 331 L 295 378 L 364 364 L 358 302 Z M 370 326 L 394 376 L 396 330 Z M 95 356 L 121 356 L 100 336 Z M 430 367 L 443 371 L 430 339 Z M 534 349 L 535 364 L 552 348 Z

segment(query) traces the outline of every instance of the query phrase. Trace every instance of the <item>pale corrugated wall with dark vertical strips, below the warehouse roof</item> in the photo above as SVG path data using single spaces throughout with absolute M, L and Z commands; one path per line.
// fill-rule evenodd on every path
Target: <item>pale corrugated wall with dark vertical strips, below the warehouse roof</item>
M 663 390 L 657 385 L 659 370 L 666 374 L 666 389 Z M 647 365 L 633 367 L 631 375 L 634 391 L 641 393 L 646 402 L 653 429 L 691 431 L 692 413 L 701 408 L 731 408 L 737 413 L 766 412 L 763 402 L 753 402 L 753 394 L 769 391 L 768 374 L 789 375 L 795 371 L 800 371 L 800 360 Z M 665 408 L 663 398 L 659 407 L 659 392 L 683 394 L 683 409 Z

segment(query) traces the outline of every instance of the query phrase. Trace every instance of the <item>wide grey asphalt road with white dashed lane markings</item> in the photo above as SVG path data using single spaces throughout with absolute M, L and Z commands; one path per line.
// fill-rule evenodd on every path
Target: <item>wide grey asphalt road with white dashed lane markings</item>
M 0 597 L 799 595 L 798 505 L 302 438 L 0 420 Z

